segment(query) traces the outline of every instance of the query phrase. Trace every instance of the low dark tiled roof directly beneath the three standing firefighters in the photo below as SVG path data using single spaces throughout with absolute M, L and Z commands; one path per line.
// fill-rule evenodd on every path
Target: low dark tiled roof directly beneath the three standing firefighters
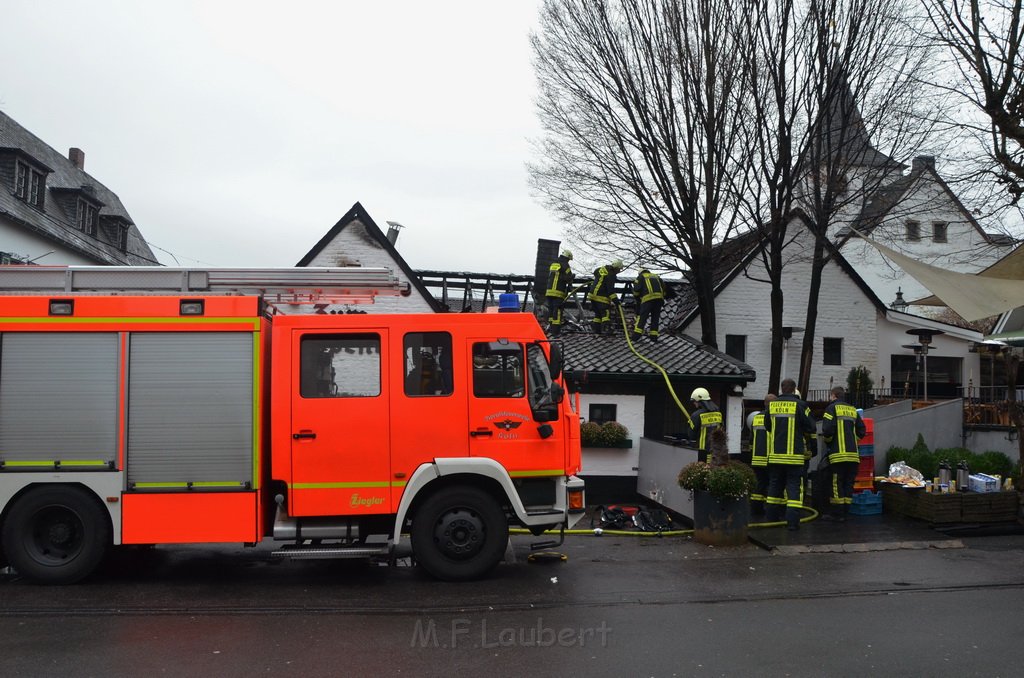
M 629 322 L 629 321 L 628 321 Z M 653 366 L 630 350 L 620 331 L 614 335 L 563 333 L 561 335 L 565 370 L 599 373 L 602 376 L 646 377 L 662 380 Z M 660 365 L 670 377 L 699 377 L 703 380 L 749 382 L 756 378 L 754 368 L 734 357 L 706 346 L 686 335 L 662 335 L 651 342 L 641 339 L 637 350 Z

